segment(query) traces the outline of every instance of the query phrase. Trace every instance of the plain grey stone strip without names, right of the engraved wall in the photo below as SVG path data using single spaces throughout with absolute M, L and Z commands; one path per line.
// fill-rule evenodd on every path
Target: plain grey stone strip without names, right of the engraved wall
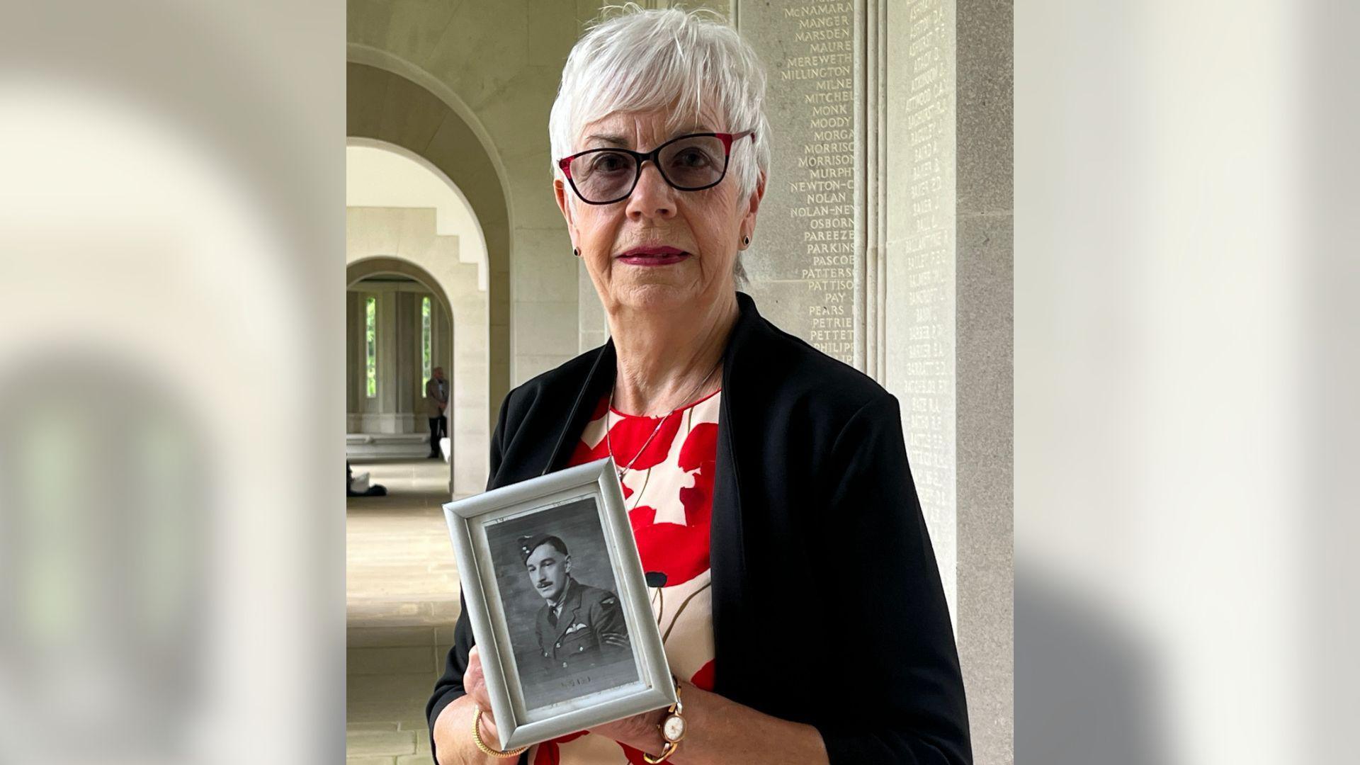
M 1015 760 L 1009 3 L 956 0 L 959 657 L 978 762 Z

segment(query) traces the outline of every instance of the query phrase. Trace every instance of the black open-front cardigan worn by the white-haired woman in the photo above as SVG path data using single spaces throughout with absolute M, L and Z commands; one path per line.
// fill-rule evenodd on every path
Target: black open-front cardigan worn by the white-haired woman
M 972 762 L 898 400 L 737 302 L 710 530 L 714 690 L 815 726 L 832 765 Z M 609 342 L 511 391 L 487 489 L 566 467 L 613 374 Z M 472 644 L 464 608 L 431 730 L 464 694 Z

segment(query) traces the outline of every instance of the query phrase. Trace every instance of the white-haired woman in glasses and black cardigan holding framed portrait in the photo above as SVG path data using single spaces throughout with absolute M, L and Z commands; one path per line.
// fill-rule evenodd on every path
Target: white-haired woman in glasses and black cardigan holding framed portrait
M 668 745 L 657 711 L 524 762 L 971 761 L 898 403 L 737 291 L 764 83 L 736 31 L 676 10 L 567 59 L 554 192 L 611 339 L 510 393 L 488 486 L 613 456 L 687 732 Z M 472 642 L 460 618 L 427 709 L 442 765 L 505 754 Z

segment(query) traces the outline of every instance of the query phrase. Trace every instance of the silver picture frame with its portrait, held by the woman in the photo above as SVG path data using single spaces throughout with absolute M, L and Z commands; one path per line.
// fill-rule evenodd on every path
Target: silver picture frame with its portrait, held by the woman
M 443 512 L 502 750 L 676 702 L 612 457 L 449 502 Z M 556 591 L 554 574 L 529 573 L 552 566 L 555 581 L 566 577 Z M 588 615 L 567 614 L 582 602 L 575 613 Z M 608 623 L 592 625 L 589 614 Z

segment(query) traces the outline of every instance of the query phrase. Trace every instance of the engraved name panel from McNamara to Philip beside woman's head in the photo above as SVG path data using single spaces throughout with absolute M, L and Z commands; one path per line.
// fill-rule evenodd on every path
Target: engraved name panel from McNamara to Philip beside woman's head
M 762 313 L 864 366 L 862 199 L 855 4 L 740 3 L 737 29 L 768 69 L 771 169 L 743 256 Z

